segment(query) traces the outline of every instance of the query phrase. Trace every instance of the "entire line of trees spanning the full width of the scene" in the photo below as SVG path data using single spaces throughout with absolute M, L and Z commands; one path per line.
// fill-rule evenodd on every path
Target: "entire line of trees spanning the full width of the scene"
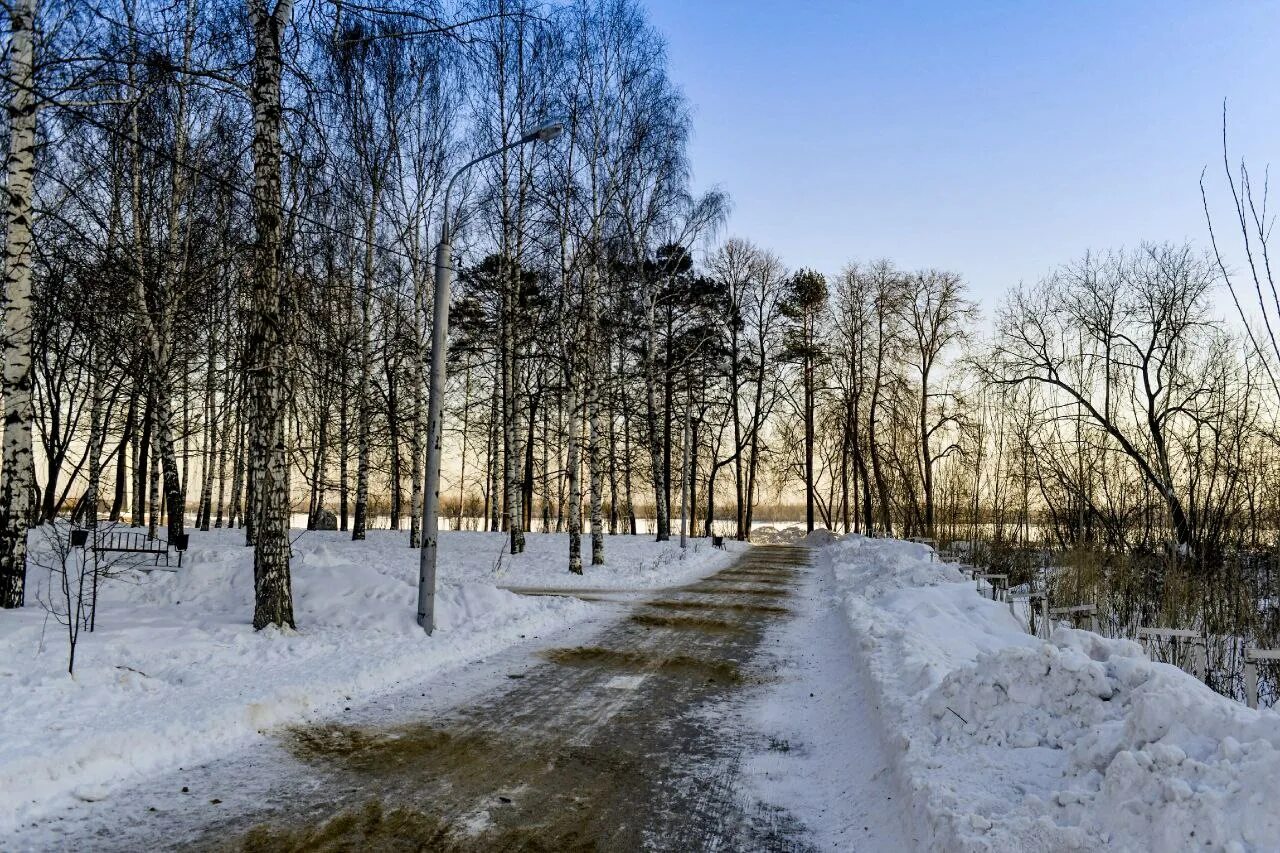
M 608 533 L 682 511 L 746 539 L 791 502 L 808 529 L 1208 556 L 1274 525 L 1275 353 L 1210 313 L 1224 264 L 1088 255 L 986 337 L 954 272 L 787 270 L 719 240 L 634 0 L 4 9 L 5 606 L 59 514 L 243 528 L 259 626 L 293 621 L 294 514 L 416 547 L 443 188 L 548 115 L 561 141 L 454 196 L 456 526 L 564 532 L 584 571 Z

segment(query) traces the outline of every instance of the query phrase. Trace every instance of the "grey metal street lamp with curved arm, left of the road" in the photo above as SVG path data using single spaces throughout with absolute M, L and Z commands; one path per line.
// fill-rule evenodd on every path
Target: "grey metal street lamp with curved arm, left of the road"
M 440 245 L 435 250 L 435 311 L 431 316 L 431 386 L 426 402 L 426 484 L 422 496 L 422 551 L 417 573 L 417 624 L 428 634 L 435 628 L 435 558 L 440 538 L 440 443 L 444 439 L 444 352 L 449 341 L 449 286 L 453 278 L 453 237 L 449 233 L 449 195 L 458 177 L 503 151 L 550 142 L 564 132 L 564 119 L 549 119 L 515 142 L 484 154 L 453 173 L 444 190 L 440 215 Z

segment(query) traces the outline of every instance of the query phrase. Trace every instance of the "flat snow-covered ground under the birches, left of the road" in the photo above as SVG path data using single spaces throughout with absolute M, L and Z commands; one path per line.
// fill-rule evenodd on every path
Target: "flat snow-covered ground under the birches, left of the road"
M 41 533 L 32 534 L 41 551 Z M 424 679 L 585 619 L 567 597 L 502 587 L 641 589 L 726 566 L 733 551 L 691 540 L 609 537 L 607 565 L 570 575 L 567 535 L 445 533 L 438 630 L 415 621 L 417 552 L 407 534 L 294 532 L 297 631 L 253 631 L 252 551 L 243 533 L 193 533 L 184 567 L 129 571 L 102 588 L 76 675 L 67 638 L 38 599 L 47 570 L 28 570 L 28 606 L 0 613 L 0 835 L 70 797 L 99 799 L 141 775 L 209 758 L 278 725 Z M 590 542 L 584 539 L 588 558 Z

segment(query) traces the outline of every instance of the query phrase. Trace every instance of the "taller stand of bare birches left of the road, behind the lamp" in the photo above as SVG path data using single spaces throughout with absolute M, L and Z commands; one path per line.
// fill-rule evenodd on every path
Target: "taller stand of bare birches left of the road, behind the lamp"
M 6 606 L 28 526 L 63 512 L 170 538 L 243 528 L 257 626 L 293 621 L 293 512 L 357 539 L 385 517 L 417 544 L 443 186 L 554 114 L 564 145 L 515 149 L 456 199 L 454 482 L 470 498 L 484 471 L 513 552 L 535 506 L 563 526 L 589 506 L 604 561 L 605 507 L 616 528 L 645 480 L 616 433 L 654 441 L 620 424 L 645 397 L 621 387 L 641 357 L 627 315 L 678 298 L 662 247 L 723 211 L 690 196 L 687 109 L 637 4 L 5 13 Z

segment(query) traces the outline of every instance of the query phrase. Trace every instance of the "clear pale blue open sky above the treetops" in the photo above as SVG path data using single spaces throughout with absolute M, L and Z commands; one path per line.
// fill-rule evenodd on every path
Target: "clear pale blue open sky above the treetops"
M 646 5 L 696 183 L 792 268 L 886 256 L 993 304 L 1087 248 L 1207 245 L 1224 99 L 1234 154 L 1280 167 L 1280 3 Z

